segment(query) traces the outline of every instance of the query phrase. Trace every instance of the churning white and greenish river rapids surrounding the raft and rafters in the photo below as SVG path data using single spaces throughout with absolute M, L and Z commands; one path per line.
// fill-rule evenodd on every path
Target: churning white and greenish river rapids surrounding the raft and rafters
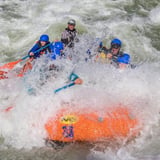
M 23 61 L 10 79 L 0 80 L 0 160 L 160 159 L 159 0 L 0 0 L 0 66 L 27 55 L 41 34 L 60 40 L 71 18 L 80 39 L 72 60 L 58 59 L 58 69 L 48 71 L 53 62 L 42 56 L 28 75 L 15 78 Z M 95 62 L 94 55 L 85 61 L 88 49 L 94 54 L 100 41 L 109 47 L 113 38 L 122 40 L 122 50 L 136 68 L 116 69 Z M 73 70 L 83 84 L 54 94 Z M 30 88 L 36 93 L 28 93 Z M 64 104 L 101 112 L 102 106 L 123 104 L 139 119 L 140 133 L 129 141 L 71 143 L 53 149 L 45 144 L 44 124 Z M 8 107 L 13 108 L 5 112 Z

